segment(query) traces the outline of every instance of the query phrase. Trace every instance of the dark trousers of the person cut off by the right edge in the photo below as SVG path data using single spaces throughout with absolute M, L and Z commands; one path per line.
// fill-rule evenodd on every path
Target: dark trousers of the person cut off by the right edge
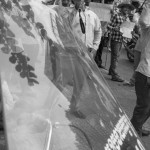
M 150 116 L 150 85 L 147 77 L 139 72 L 135 76 L 136 106 L 133 111 L 131 123 L 141 134 L 142 126 Z

